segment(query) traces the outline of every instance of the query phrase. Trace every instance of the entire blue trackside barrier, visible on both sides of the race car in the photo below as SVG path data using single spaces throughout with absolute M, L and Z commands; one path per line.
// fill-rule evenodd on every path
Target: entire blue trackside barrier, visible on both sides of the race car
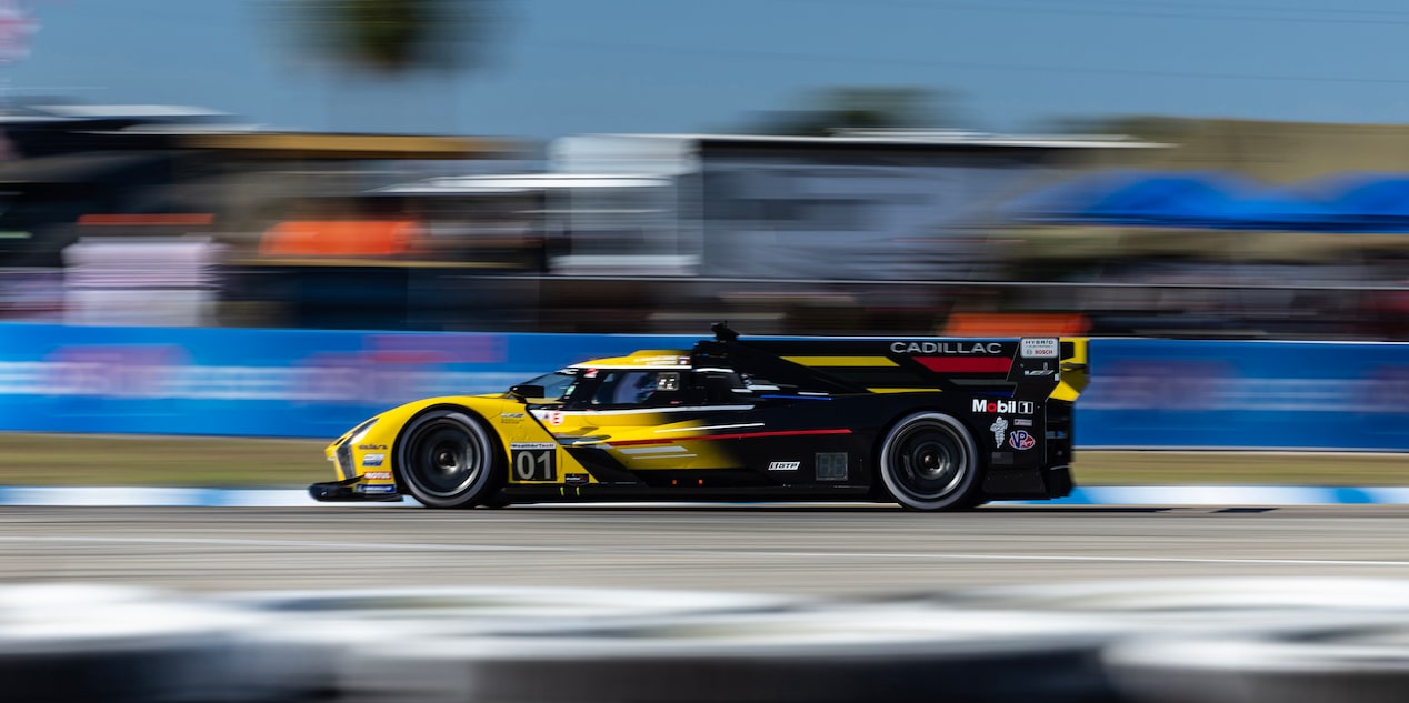
M 0 431 L 330 438 L 697 335 L 0 324 Z M 1409 345 L 1092 340 L 1082 448 L 1409 451 Z

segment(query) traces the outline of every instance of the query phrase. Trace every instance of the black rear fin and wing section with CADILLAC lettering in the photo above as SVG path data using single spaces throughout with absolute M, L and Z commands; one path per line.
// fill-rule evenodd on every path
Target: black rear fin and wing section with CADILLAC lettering
M 1086 386 L 1086 340 L 747 338 L 700 342 L 696 363 L 730 366 L 826 393 L 962 390 L 1072 402 Z

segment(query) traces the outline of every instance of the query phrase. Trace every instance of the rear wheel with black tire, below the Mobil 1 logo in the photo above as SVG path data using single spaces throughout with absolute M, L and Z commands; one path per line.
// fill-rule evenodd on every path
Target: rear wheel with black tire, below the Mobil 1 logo
M 881 442 L 881 480 L 910 510 L 961 510 L 982 500 L 978 445 L 964 423 L 943 413 L 914 413 Z

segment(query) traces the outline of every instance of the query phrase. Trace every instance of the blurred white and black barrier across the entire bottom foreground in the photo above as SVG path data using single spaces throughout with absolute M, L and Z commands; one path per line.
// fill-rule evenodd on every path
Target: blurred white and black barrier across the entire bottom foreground
M 1409 582 L 1177 579 L 807 600 L 575 587 L 0 589 L 4 700 L 1403 700 Z

